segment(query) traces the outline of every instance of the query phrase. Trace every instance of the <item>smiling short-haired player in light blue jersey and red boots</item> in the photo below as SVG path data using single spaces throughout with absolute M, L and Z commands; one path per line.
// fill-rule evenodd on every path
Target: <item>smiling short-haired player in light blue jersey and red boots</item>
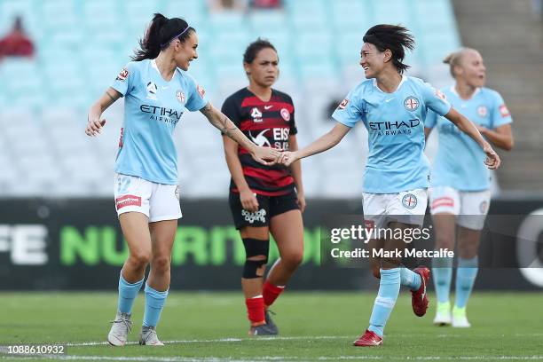
M 338 123 L 310 146 L 281 155 L 279 162 L 289 165 L 303 157 L 337 145 L 356 122 L 368 130 L 369 155 L 364 177 L 364 214 L 381 229 L 407 229 L 422 224 L 429 186 L 429 162 L 424 156 L 423 122 L 427 110 L 444 115 L 467 133 L 484 150 L 485 163 L 491 169 L 500 166 L 500 158 L 481 137 L 472 122 L 455 111 L 428 83 L 403 75 L 405 50 L 414 47 L 406 28 L 376 25 L 367 30 L 360 51 L 360 65 L 367 80 L 350 91 L 332 116 Z M 412 231 L 410 231 L 412 232 Z M 393 235 L 396 235 L 394 232 Z M 403 240 L 384 240 L 389 251 L 404 249 Z M 355 346 L 382 344 L 383 329 L 399 293 L 400 284 L 412 290 L 413 311 L 422 316 L 428 308 L 426 283 L 429 269 L 415 271 L 400 268 L 399 258 L 381 260 L 379 293 L 375 298 L 370 325 Z

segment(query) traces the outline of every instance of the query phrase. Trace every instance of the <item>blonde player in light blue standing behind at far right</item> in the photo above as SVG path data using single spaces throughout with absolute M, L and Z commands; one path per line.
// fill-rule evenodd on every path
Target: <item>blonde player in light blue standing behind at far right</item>
M 505 150 L 513 148 L 512 119 L 508 107 L 500 93 L 484 88 L 485 68 L 481 54 L 475 49 L 463 48 L 453 52 L 444 62 L 451 66 L 451 75 L 456 80 L 453 86 L 442 90 L 451 105 L 475 122 L 478 130 L 494 146 Z M 437 293 L 434 323 L 470 327 L 466 305 L 476 279 L 479 236 L 490 205 L 490 175 L 481 163 L 484 153 L 456 126 L 429 112 L 424 127 L 427 137 L 434 127 L 439 133 L 439 148 L 432 167 L 429 192 L 436 248 L 454 250 L 455 227 L 458 224 L 459 257 L 452 313 L 449 290 L 453 259 L 433 259 L 432 271 Z

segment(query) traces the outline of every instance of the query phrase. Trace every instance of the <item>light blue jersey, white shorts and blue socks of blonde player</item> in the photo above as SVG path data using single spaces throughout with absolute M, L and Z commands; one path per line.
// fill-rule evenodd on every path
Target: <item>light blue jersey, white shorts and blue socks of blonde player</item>
M 447 100 L 469 121 L 492 130 L 513 122 L 508 107 L 497 91 L 479 88 L 469 99 L 460 98 L 454 86 L 442 90 Z M 490 171 L 484 165 L 486 155 L 476 141 L 461 132 L 439 114 L 429 112 L 425 127 L 437 128 L 437 155 L 432 165 L 430 212 L 457 216 L 456 223 L 472 230 L 484 227 L 490 206 Z M 432 260 L 437 302 L 448 303 L 453 278 L 453 260 Z M 475 283 L 477 256 L 459 258 L 456 271 L 455 306 L 464 308 Z

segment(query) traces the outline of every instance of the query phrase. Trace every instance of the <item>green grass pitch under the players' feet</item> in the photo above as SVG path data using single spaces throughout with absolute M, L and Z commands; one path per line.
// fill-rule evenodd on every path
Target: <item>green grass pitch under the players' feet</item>
M 0 293 L 0 345 L 67 344 L 65 360 L 112 361 L 307 361 L 307 360 L 543 360 L 541 293 L 475 292 L 468 318 L 473 327 L 434 327 L 435 300 L 423 318 L 402 290 L 385 329 L 384 345 L 356 348 L 367 327 L 375 292 L 287 291 L 272 310 L 279 337 L 248 338 L 241 293 L 171 293 L 158 334 L 165 347 L 136 342 L 143 293 L 132 320 L 130 345 L 106 344 L 114 317 L 114 293 Z M 0 360 L 51 360 L 14 357 Z

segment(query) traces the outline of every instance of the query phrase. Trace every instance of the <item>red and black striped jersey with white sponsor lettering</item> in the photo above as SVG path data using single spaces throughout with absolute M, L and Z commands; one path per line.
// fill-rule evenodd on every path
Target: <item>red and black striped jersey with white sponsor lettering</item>
M 264 102 L 243 88 L 226 98 L 221 110 L 258 146 L 288 150 L 288 137 L 297 133 L 292 98 L 280 91 L 271 90 L 270 100 Z M 277 196 L 293 190 L 295 181 L 290 169 L 260 164 L 241 146 L 238 155 L 243 175 L 254 193 Z M 230 189 L 238 192 L 233 179 Z

